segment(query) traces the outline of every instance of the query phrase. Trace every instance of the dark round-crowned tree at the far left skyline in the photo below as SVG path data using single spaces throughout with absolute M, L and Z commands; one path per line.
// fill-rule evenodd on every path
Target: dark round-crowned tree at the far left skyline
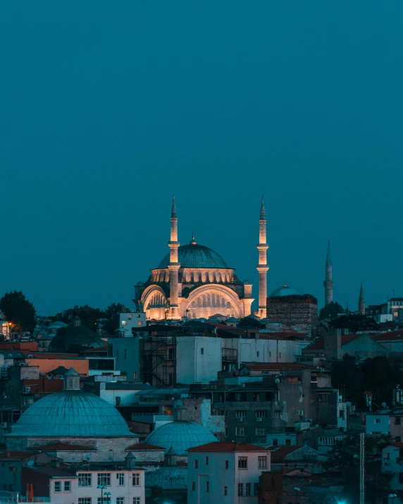
M 0 310 L 6 316 L 8 322 L 18 333 L 25 331 L 34 332 L 36 326 L 36 310 L 32 302 L 28 301 L 23 293 L 14 290 L 4 294 L 0 300 Z

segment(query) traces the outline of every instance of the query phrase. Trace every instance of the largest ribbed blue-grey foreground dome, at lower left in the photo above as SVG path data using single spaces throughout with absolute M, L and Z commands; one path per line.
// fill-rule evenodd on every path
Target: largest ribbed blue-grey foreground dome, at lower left
M 134 436 L 115 407 L 97 395 L 64 390 L 34 402 L 8 437 Z

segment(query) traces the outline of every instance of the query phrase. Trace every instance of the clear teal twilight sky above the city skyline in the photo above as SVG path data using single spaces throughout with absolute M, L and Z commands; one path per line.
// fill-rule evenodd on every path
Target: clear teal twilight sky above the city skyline
M 0 2 L 0 295 L 132 307 L 179 239 L 268 292 L 403 296 L 403 2 Z

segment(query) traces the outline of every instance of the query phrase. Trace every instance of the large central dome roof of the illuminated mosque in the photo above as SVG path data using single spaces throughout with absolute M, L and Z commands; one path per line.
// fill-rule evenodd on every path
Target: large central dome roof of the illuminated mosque
M 178 248 L 178 256 L 181 268 L 221 268 L 228 269 L 221 255 L 197 243 L 190 245 L 182 245 Z M 159 264 L 159 269 L 168 268 L 169 254 L 162 259 Z

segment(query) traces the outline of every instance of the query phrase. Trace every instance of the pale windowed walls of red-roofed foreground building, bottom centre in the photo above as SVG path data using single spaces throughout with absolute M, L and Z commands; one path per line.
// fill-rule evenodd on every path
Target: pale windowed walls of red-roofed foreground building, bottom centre
M 258 468 L 258 456 L 267 457 L 267 469 Z M 206 465 L 206 457 L 209 463 Z M 238 458 L 247 457 L 247 469 L 238 469 Z M 198 467 L 194 467 L 194 460 Z M 225 469 L 225 460 L 228 460 L 228 469 Z M 187 502 L 197 504 L 210 504 L 223 502 L 233 504 L 257 504 L 257 493 L 254 494 L 254 484 L 259 484 L 262 470 L 270 470 L 270 453 L 261 452 L 190 452 L 187 457 Z M 192 490 L 192 482 L 195 490 Z M 206 483 L 209 482 L 209 492 L 206 492 Z M 238 484 L 243 484 L 242 497 L 238 497 Z M 251 496 L 246 496 L 246 485 L 251 485 Z M 224 496 L 224 486 L 227 487 L 227 496 Z

